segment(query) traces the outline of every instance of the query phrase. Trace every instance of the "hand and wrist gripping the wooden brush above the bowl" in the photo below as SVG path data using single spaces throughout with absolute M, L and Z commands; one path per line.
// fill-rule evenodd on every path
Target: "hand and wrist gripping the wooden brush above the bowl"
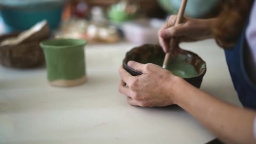
M 159 43 L 163 50 L 168 52 L 172 37 L 179 37 L 180 42 L 193 42 L 212 37 L 211 26 L 214 19 L 192 19 L 184 17 L 182 23 L 174 26 L 176 15 L 171 15 L 168 21 L 158 31 Z

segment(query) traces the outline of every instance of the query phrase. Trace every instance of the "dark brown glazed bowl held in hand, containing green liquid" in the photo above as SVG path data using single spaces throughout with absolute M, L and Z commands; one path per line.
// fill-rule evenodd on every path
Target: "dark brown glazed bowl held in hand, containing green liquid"
M 177 50 L 175 54 L 173 54 L 174 57 L 177 55 L 185 55 L 186 57 L 184 61 L 192 64 L 198 72 L 196 77 L 184 78 L 184 80 L 195 87 L 200 88 L 203 76 L 206 72 L 205 61 L 203 61 L 203 59 L 201 59 L 197 54 L 182 49 Z M 123 60 L 123 67 L 133 76 L 142 75 L 141 72 L 128 67 L 128 61 L 137 61 L 143 64 L 154 63 L 162 67 L 164 57 L 165 53 L 160 45 L 145 44 L 140 47 L 133 48 L 131 51 L 126 53 L 125 59 Z M 152 61 L 156 58 L 159 59 L 159 61 Z

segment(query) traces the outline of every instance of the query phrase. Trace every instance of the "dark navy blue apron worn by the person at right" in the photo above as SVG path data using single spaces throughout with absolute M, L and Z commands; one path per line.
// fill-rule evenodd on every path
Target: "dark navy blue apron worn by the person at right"
M 232 77 L 235 90 L 244 107 L 256 110 L 256 85 L 250 80 L 244 63 L 245 30 L 232 49 L 225 49 L 229 73 Z M 255 74 L 256 75 L 256 74 Z

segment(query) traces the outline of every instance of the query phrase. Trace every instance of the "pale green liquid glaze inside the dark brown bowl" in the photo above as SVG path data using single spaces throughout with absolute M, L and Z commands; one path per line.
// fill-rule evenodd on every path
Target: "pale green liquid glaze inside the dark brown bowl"
M 170 61 L 170 64 L 166 69 L 170 70 L 174 75 L 182 78 L 190 78 L 190 77 L 197 77 L 198 72 L 192 64 L 189 64 L 185 61 L 185 55 L 178 55 L 173 57 Z M 163 58 L 150 58 L 144 61 L 139 61 L 143 64 L 153 63 L 157 64 L 162 67 L 163 65 Z

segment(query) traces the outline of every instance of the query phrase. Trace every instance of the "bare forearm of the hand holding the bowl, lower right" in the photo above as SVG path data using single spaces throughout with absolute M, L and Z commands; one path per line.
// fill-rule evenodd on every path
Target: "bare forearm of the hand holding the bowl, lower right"
M 221 140 L 229 143 L 255 143 L 255 112 L 220 101 L 184 80 L 177 80 L 173 89 L 174 102 Z

